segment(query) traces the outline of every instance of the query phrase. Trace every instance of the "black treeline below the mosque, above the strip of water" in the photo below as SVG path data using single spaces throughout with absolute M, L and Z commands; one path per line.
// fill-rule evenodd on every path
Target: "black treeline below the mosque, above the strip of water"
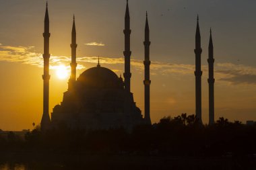
M 109 130 L 59 130 L 35 128 L 24 139 L 9 132 L 0 136 L 2 152 L 82 153 L 113 155 L 169 155 L 187 157 L 253 157 L 256 125 L 220 118 L 212 126 L 194 115 L 162 118 L 158 124 Z

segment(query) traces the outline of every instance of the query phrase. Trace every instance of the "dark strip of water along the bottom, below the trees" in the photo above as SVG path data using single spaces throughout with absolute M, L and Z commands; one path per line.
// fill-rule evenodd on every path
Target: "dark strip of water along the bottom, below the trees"
M 138 155 L 1 154 L 0 169 L 256 169 L 252 157 L 192 158 Z M 10 161 L 11 160 L 11 161 Z

